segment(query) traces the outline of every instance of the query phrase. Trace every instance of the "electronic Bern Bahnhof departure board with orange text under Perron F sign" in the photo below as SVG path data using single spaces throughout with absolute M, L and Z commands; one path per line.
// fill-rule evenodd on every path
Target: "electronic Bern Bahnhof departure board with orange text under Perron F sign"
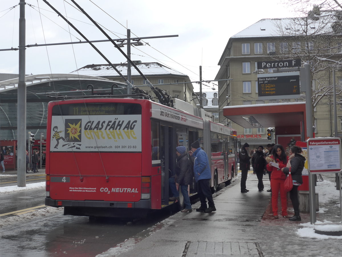
M 299 72 L 258 75 L 258 96 L 260 100 L 299 98 Z

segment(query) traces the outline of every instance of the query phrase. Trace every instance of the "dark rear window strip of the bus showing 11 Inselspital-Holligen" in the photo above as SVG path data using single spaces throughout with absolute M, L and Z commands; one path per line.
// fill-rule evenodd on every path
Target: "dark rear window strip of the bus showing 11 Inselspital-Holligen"
M 127 115 L 141 114 L 139 103 L 97 102 L 71 103 L 55 105 L 52 108 L 53 116 L 64 115 Z

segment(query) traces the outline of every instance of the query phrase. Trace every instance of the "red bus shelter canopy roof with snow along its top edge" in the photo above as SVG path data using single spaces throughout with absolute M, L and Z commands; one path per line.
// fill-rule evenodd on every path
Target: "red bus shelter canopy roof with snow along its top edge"
M 305 102 L 226 106 L 223 115 L 245 129 L 300 126 L 305 120 Z

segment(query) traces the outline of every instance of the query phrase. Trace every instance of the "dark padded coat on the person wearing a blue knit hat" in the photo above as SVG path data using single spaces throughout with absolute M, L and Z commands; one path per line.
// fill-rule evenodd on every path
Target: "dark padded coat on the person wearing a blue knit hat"
M 186 153 L 177 157 L 176 176 L 174 181 L 180 185 L 192 184 L 192 167 Z

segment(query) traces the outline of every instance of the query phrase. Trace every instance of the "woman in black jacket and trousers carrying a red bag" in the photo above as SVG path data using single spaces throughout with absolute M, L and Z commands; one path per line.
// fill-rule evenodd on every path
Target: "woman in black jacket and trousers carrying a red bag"
M 290 191 L 290 199 L 292 201 L 294 215 L 289 218 L 291 221 L 301 221 L 302 218 L 299 214 L 299 199 L 298 199 L 298 187 L 303 183 L 302 171 L 304 169 L 305 157 L 301 155 L 302 148 L 299 146 L 291 146 L 290 157 L 285 168 L 281 171 L 285 174 L 291 172 L 293 187 Z

